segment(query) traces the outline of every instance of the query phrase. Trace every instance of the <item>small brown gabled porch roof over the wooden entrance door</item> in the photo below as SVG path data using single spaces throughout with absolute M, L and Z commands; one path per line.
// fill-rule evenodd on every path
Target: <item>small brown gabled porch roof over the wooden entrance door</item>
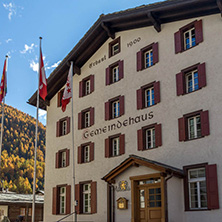
M 125 159 L 122 163 L 120 163 L 117 167 L 112 169 L 109 173 L 107 173 L 102 180 L 105 180 L 106 182 L 112 181 L 116 176 L 124 172 L 126 169 L 128 169 L 131 166 L 146 166 L 155 170 L 158 170 L 162 173 L 174 175 L 179 178 L 184 177 L 183 170 L 178 169 L 176 167 L 172 167 L 169 165 L 166 165 L 164 163 L 160 163 L 154 160 L 150 160 L 144 157 L 140 157 L 137 155 L 129 155 L 127 159 Z

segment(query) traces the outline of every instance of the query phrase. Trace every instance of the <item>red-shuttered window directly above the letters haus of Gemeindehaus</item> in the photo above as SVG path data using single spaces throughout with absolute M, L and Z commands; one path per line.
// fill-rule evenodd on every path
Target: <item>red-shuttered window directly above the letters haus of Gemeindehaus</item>
M 160 82 L 152 82 L 137 90 L 137 109 L 144 109 L 160 102 Z

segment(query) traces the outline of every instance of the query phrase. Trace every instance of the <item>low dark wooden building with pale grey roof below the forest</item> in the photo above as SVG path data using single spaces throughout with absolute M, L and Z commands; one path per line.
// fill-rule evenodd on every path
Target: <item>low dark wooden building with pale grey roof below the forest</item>
M 32 219 L 32 194 L 16 194 L 13 192 L 0 192 L 0 221 L 7 216 L 11 222 L 19 216 L 23 222 L 31 222 Z M 36 195 L 35 221 L 43 221 L 44 196 Z

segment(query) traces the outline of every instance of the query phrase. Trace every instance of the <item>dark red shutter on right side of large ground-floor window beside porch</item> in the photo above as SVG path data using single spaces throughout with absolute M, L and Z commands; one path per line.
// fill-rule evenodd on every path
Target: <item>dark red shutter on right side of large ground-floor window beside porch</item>
M 219 209 L 217 165 L 206 166 L 207 206 L 208 209 Z

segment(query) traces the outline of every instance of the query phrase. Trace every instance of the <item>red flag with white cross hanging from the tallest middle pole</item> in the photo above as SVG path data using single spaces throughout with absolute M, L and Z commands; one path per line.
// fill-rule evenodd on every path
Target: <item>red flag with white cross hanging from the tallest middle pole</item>
M 44 100 L 45 97 L 47 96 L 47 82 L 46 82 L 41 46 L 40 46 L 40 57 L 39 57 L 39 95 Z

